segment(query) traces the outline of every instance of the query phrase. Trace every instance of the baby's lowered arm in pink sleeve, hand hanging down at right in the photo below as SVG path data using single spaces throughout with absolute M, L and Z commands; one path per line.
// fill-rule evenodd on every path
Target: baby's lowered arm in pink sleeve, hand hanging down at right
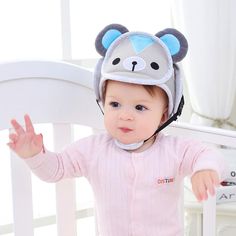
M 226 163 L 221 154 L 196 140 L 180 139 L 177 142 L 181 157 L 180 173 L 191 176 L 193 193 L 199 201 L 206 200 L 208 193 L 215 194 L 215 187 L 223 180 Z

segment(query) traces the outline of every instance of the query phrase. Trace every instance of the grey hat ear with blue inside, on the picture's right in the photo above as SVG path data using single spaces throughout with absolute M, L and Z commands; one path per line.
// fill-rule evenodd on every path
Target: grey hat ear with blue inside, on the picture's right
M 186 56 L 188 42 L 178 30 L 168 28 L 155 35 L 167 46 L 174 63 L 181 61 Z

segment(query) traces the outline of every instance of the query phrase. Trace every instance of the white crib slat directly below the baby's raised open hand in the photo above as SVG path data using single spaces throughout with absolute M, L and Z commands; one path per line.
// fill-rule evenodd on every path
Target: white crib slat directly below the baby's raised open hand
M 32 184 L 29 168 L 11 153 L 14 235 L 33 236 Z

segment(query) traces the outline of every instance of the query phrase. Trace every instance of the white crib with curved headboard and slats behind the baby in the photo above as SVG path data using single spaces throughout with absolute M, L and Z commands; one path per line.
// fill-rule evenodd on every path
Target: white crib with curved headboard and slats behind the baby
M 53 123 L 54 147 L 71 142 L 71 124 L 103 129 L 102 114 L 95 102 L 92 71 L 60 61 L 22 61 L 0 65 L 0 131 L 10 120 L 23 124 L 25 113 L 34 123 Z M 236 134 L 175 123 L 166 132 L 189 135 L 202 141 L 236 148 Z M 33 236 L 32 184 L 29 169 L 11 153 L 11 176 L 15 236 Z M 75 181 L 56 184 L 58 236 L 77 236 Z M 215 235 L 215 199 L 204 206 L 203 235 Z M 3 233 L 2 233 L 3 234 Z M 0 228 L 1 235 L 1 228 Z

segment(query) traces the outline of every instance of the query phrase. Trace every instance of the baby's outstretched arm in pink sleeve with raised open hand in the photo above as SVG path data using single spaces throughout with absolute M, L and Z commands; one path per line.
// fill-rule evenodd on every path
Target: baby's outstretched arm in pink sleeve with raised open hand
M 24 119 L 25 129 L 15 119 L 11 121 L 15 133 L 9 135 L 11 141 L 8 146 L 40 179 L 57 182 L 86 174 L 84 156 L 78 151 L 76 143 L 60 153 L 50 152 L 44 149 L 42 135 L 35 134 L 30 117 L 25 115 Z

